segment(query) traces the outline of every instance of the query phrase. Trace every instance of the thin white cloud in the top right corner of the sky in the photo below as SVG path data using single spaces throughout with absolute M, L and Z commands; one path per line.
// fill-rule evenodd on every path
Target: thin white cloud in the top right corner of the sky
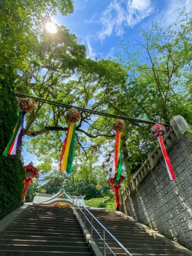
M 187 13 L 192 11 L 192 0 L 169 0 L 166 10 L 159 14 L 158 22 L 164 27 L 174 23 L 178 17 L 178 9 L 185 7 Z

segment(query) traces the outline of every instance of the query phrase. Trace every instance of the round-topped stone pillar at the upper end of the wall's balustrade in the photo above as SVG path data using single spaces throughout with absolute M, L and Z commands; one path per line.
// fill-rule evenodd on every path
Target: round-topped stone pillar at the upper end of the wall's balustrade
M 181 115 L 174 115 L 172 119 L 170 119 L 170 125 L 173 128 L 174 133 L 176 134 L 177 138 L 179 139 L 185 131 L 187 131 L 187 122 L 185 118 Z

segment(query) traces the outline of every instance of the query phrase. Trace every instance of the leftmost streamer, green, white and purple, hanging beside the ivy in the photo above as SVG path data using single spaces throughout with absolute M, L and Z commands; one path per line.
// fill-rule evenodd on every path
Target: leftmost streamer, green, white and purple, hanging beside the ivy
M 3 152 L 3 156 L 10 155 L 11 158 L 14 158 L 16 151 L 18 151 L 20 143 L 22 142 L 23 131 L 24 131 L 24 118 L 27 112 L 19 112 L 19 120 L 16 123 L 14 130 L 12 131 L 12 136 Z

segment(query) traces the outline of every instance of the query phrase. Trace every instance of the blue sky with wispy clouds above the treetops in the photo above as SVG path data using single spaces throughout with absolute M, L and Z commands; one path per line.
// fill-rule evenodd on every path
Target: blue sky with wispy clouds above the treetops
M 113 57 L 120 40 L 133 41 L 138 23 L 150 28 L 153 15 L 163 27 L 176 20 L 177 10 L 192 10 L 192 0 L 75 0 L 74 13 L 57 14 L 63 24 L 85 44 L 87 57 Z

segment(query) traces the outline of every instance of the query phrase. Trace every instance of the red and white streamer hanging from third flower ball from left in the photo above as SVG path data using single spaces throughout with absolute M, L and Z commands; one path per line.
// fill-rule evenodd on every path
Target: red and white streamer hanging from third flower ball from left
M 115 135 L 115 153 L 114 153 L 114 160 L 112 162 L 111 178 L 115 177 L 115 172 L 118 168 L 118 162 L 119 162 L 119 156 L 120 156 L 120 135 L 121 134 L 122 133 L 120 131 L 116 131 L 116 135 Z M 120 166 L 122 166 L 122 164 Z

